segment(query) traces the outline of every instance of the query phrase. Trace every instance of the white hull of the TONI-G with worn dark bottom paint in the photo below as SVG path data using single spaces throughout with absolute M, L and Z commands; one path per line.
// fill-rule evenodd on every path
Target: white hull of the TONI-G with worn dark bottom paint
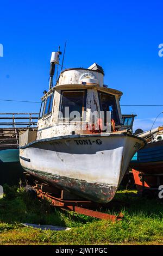
M 20 162 L 51 185 L 99 203 L 115 195 L 143 139 L 132 135 L 71 135 L 20 147 Z

